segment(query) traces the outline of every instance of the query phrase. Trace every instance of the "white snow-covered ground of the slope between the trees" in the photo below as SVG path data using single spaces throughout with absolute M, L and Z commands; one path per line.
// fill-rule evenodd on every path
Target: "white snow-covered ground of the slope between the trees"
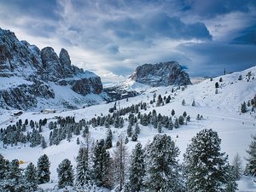
M 247 73 L 252 72 L 250 80 L 247 81 Z M 238 80 L 241 75 L 242 79 Z M 254 79 L 253 79 L 254 77 Z M 185 90 L 176 90 L 174 87 L 172 93 L 172 86 L 170 87 L 160 87 L 146 90 L 143 95 L 129 98 L 128 102 L 126 100 L 121 100 L 117 102 L 117 108 L 125 108 L 131 106 L 132 104 L 137 104 L 139 102 L 148 102 L 148 110 L 143 113 L 148 113 L 153 109 L 157 113 L 162 115 L 171 115 L 172 109 L 175 110 L 177 117 L 186 111 L 190 117 L 191 122 L 188 125 L 183 125 L 178 129 L 173 129 L 172 131 L 163 128 L 164 133 L 170 135 L 173 140 L 175 140 L 177 147 L 180 149 L 181 154 L 179 155 L 179 162 L 183 161 L 183 153 L 190 143 L 191 138 L 195 137 L 195 134 L 202 129 L 213 129 L 218 131 L 218 136 L 222 139 L 221 148 L 222 151 L 229 155 L 230 162 L 233 157 L 238 153 L 243 159 L 243 166 L 246 165 L 247 148 L 249 143 L 251 143 L 251 136 L 256 134 L 256 113 L 251 112 L 247 107 L 247 113 L 241 113 L 241 103 L 247 102 L 253 99 L 256 94 L 256 67 L 247 69 L 246 71 L 239 73 L 232 73 L 221 76 L 223 82 L 219 82 L 220 77 L 212 79 L 206 79 L 198 84 L 189 85 Z M 216 94 L 215 83 L 218 82 L 218 94 Z M 135 86 L 139 89 L 137 84 L 131 84 L 129 86 Z M 143 89 L 145 89 L 143 87 Z M 171 95 L 172 100 L 170 103 L 155 107 L 149 104 L 149 101 L 153 99 L 153 95 L 160 95 L 162 97 Z M 182 105 L 183 99 L 185 100 L 185 105 Z M 195 107 L 191 106 L 191 103 L 195 100 Z M 108 114 L 108 109 L 113 107 L 112 103 L 102 103 L 96 106 L 90 106 L 88 108 L 81 108 L 78 110 L 57 110 L 56 113 L 40 113 L 38 112 L 26 112 L 19 117 L 14 117 L 12 114 L 14 111 L 0 111 L 0 128 L 6 128 L 7 125 L 15 124 L 19 119 L 24 121 L 25 119 L 54 119 L 55 116 L 75 116 L 76 121 L 79 119 L 91 119 L 96 115 Z M 202 120 L 196 120 L 196 115 L 201 114 L 203 116 Z M 121 132 L 126 134 L 126 124 L 123 129 L 111 128 L 113 131 L 113 145 L 117 142 L 118 136 Z M 144 127 L 140 125 L 141 133 L 138 136 L 138 141 L 143 145 L 146 145 L 155 134 L 157 130 L 154 129 L 152 125 Z M 105 127 L 92 128 L 90 126 L 90 136 L 97 140 L 106 137 L 107 129 Z M 43 131 L 45 138 L 49 138 L 49 129 L 45 128 Z M 82 137 L 80 141 L 83 141 Z M 61 160 L 65 158 L 72 161 L 73 166 L 76 166 L 75 157 L 79 151 L 79 145 L 76 143 L 77 137 L 73 137 L 72 141 L 68 143 L 66 140 L 61 141 L 58 146 L 52 145 L 48 148 L 30 148 L 28 144 L 18 145 L 15 147 L 3 148 L 3 143 L 0 143 L 0 153 L 6 159 L 13 160 L 24 160 L 26 163 L 21 165 L 26 167 L 29 162 L 37 164 L 39 156 L 47 154 L 50 160 L 50 172 L 51 172 L 51 182 L 44 184 L 40 187 L 43 189 L 53 189 L 57 184 L 57 173 L 56 167 L 61 163 Z M 135 146 L 135 142 L 127 143 L 127 147 L 131 151 Z M 110 149 L 113 150 L 113 148 Z M 256 183 L 253 183 L 252 177 L 242 177 L 238 181 L 239 191 L 256 191 Z

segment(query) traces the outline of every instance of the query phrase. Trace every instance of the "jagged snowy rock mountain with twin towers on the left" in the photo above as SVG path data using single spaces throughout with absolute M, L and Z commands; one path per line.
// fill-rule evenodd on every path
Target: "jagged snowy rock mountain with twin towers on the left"
M 0 28 L 0 108 L 77 108 L 102 101 L 102 81 L 71 64 L 66 49 L 38 49 Z

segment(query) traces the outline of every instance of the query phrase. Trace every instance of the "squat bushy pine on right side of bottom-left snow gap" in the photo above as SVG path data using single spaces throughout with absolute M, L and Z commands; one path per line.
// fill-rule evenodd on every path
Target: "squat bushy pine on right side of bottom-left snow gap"
M 62 160 L 57 168 L 58 173 L 58 187 L 62 189 L 66 186 L 73 186 L 73 166 L 70 160 Z

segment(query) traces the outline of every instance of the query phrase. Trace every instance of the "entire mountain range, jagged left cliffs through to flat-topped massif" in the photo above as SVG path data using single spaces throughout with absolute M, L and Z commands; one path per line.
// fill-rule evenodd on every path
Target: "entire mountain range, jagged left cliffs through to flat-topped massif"
M 99 76 L 72 65 L 66 49 L 38 49 L 0 28 L 0 108 L 33 110 L 81 108 L 136 96 L 127 84 L 167 86 L 191 84 L 176 61 L 137 67 L 125 83 L 103 90 Z

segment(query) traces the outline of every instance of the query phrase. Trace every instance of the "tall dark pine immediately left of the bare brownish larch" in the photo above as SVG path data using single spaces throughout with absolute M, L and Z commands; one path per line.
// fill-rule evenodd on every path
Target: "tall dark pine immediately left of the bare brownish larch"
M 105 142 L 101 139 L 96 143 L 93 152 L 93 166 L 92 174 L 93 179 L 97 186 L 106 186 L 110 185 L 108 173 L 109 173 L 109 164 L 110 164 L 110 155 L 106 150 Z

